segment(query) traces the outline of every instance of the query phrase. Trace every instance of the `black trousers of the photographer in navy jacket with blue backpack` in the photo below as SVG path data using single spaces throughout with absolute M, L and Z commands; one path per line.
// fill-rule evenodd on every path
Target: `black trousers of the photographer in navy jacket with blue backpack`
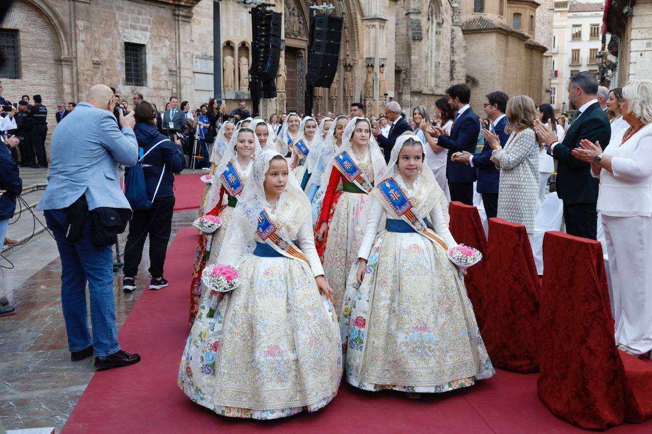
M 174 197 L 157 197 L 152 207 L 137 210 L 129 220 L 129 235 L 125 245 L 126 277 L 136 277 L 138 266 L 143 257 L 145 238 L 149 235 L 149 274 L 152 277 L 163 276 L 163 265 L 172 227 Z

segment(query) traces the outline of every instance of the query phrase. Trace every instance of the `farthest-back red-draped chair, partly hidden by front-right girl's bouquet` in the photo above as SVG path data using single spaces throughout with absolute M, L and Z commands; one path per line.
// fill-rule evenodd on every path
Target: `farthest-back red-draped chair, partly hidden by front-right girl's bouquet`
M 475 319 L 477 319 L 478 326 L 482 327 L 484 321 L 483 313 L 485 309 L 484 292 L 486 291 L 486 253 L 487 253 L 487 239 L 484 235 L 484 227 L 482 227 L 482 220 L 476 207 L 464 205 L 461 202 L 451 202 L 449 206 L 449 214 L 451 214 L 450 229 L 452 237 L 459 243 L 466 246 L 477 248 L 483 257 L 482 261 L 469 267 L 464 276 L 464 285 L 469 294 L 471 304 L 473 304 L 473 311 L 475 311 Z

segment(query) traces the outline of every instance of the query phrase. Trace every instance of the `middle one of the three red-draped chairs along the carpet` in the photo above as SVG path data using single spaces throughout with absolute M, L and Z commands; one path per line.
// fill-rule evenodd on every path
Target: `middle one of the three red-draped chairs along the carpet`
M 482 339 L 496 368 L 539 371 L 539 276 L 524 225 L 489 219 Z

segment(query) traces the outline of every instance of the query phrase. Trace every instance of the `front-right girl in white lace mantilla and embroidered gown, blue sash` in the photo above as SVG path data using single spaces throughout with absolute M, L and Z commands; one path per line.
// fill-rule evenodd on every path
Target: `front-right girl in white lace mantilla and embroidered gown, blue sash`
M 385 181 L 370 194 L 359 261 L 346 287 L 340 316 L 346 377 L 363 390 L 447 392 L 495 373 L 446 254 L 457 243 L 423 149 L 414 134 L 396 140 Z M 376 235 L 383 215 L 387 229 Z

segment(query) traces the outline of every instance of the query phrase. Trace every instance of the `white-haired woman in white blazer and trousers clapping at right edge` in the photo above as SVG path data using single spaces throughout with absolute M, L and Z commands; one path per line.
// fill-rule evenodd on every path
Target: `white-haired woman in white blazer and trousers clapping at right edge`
M 573 154 L 600 178 L 597 210 L 609 254 L 615 341 L 625 353 L 652 351 L 652 81 L 623 87 L 623 119 L 604 152 L 587 140 Z

